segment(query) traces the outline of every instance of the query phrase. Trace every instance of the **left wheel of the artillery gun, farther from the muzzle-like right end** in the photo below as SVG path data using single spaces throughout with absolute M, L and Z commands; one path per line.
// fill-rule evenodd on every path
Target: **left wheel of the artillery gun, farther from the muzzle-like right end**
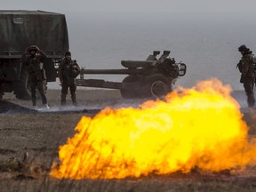
M 140 87 L 136 87 L 136 83 L 140 82 L 139 76 L 126 76 L 122 82 L 124 88 L 120 90 L 121 95 L 124 99 L 135 99 L 140 98 Z M 131 87 L 125 87 L 125 83 L 135 83 L 131 89 Z

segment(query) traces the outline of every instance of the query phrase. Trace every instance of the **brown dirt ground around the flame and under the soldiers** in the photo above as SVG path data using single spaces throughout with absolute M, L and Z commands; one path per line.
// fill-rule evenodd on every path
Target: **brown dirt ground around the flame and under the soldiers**
M 256 191 L 254 168 L 249 172 L 252 176 L 246 178 L 233 177 L 228 172 L 202 176 L 196 171 L 140 180 L 49 178 L 47 172 L 58 157 L 60 145 L 74 135 L 82 116 L 94 116 L 107 106 L 136 107 L 144 100 L 123 100 L 118 91 L 78 90 L 78 108 L 72 107 L 70 95 L 68 107 L 60 108 L 59 90 L 49 90 L 47 97 L 50 110 L 43 108 L 38 100 L 35 111 L 30 100 L 16 100 L 12 93 L 5 94 L 0 102 L 0 191 Z M 244 120 L 254 135 L 254 116 L 244 112 Z

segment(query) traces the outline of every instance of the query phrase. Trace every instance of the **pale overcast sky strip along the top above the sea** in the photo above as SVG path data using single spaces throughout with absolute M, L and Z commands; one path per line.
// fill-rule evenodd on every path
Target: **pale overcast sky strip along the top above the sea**
M 256 0 L 1 0 L 0 9 L 51 12 L 255 13 Z

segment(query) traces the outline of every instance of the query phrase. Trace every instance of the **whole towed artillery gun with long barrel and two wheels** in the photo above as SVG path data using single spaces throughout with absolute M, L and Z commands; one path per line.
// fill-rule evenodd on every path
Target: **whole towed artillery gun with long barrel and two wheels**
M 172 92 L 172 85 L 179 76 L 185 76 L 187 66 L 176 63 L 168 57 L 170 51 L 164 51 L 157 59 L 159 51 L 154 51 L 147 60 L 122 60 L 121 69 L 82 69 L 78 86 L 119 89 L 124 99 L 162 97 Z M 84 79 L 85 74 L 128 75 L 120 82 L 108 82 L 103 79 Z

